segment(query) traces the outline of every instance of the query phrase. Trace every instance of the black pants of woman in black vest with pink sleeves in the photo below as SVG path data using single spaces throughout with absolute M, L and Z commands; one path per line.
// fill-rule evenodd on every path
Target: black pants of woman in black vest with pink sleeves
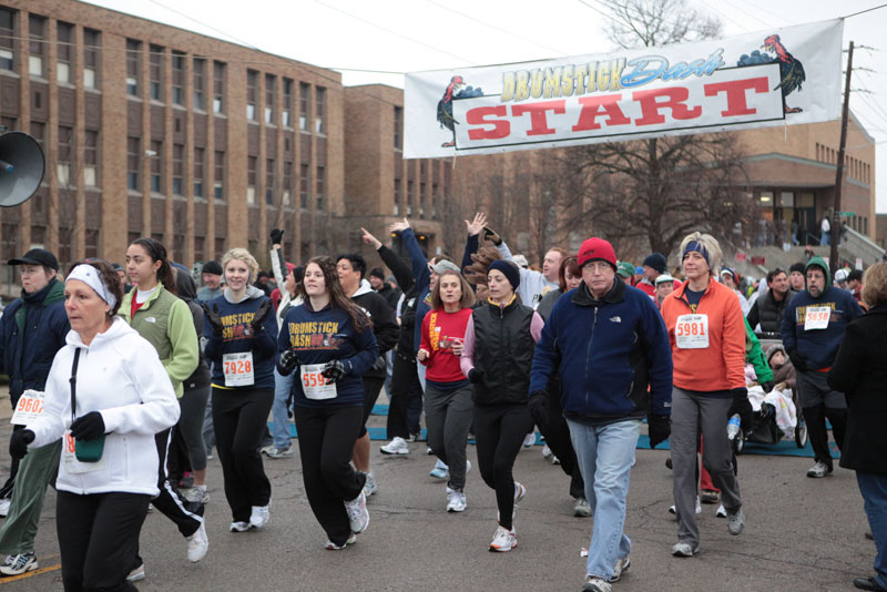
M 527 405 L 475 405 L 475 440 L 483 482 L 496 490 L 499 524 L 511 529 L 514 479 L 511 469 L 532 427 Z

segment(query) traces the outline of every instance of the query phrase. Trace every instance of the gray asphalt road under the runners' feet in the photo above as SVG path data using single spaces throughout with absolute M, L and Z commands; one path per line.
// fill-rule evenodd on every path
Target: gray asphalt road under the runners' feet
M 0 401 L 0 408 L 8 407 Z M 383 425 L 383 418 L 373 418 Z M 10 427 L 0 427 L 8 441 Z M 141 591 L 323 590 L 323 591 L 554 591 L 580 590 L 591 520 L 572 516 L 569 480 L 541 455 L 520 452 L 516 479 L 529 490 L 514 525 L 519 547 L 490 553 L 496 500 L 475 469 L 466 488 L 468 509 L 445 511 L 442 482 L 428 476 L 434 465 L 424 443 L 407 457 L 386 457 L 374 442 L 373 465 L 380 491 L 369 502 L 370 524 L 357 544 L 326 551 L 326 541 L 308 507 L 298 455 L 266 460 L 273 483 L 272 520 L 262 531 L 228 532 L 231 514 L 222 489 L 218 460 L 210 461 L 207 506 L 210 552 L 188 563 L 185 540 L 162 514 L 149 514 L 142 533 L 147 578 Z M 473 446 L 469 459 L 476 460 Z M 9 460 L 3 452 L 0 472 Z M 726 521 L 703 506 L 702 552 L 671 557 L 676 540 L 667 452 L 639 450 L 632 471 L 625 531 L 633 541 L 631 569 L 615 591 L 810 591 L 853 590 L 855 575 L 873 573 L 875 545 L 864 538 L 867 522 L 852 471 L 808 479 L 810 459 L 743 456 L 740 482 L 746 529 L 727 533 Z M 37 551 L 40 570 L 0 580 L 0 592 L 61 590 L 55 541 L 55 496 L 50 490 Z

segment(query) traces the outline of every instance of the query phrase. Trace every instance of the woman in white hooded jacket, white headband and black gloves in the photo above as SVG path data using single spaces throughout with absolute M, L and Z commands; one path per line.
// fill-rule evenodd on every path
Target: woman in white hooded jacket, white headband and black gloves
M 156 379 L 165 374 L 156 350 L 115 316 L 121 298 L 108 263 L 74 266 L 64 284 L 71 331 L 52 363 L 43 409 L 9 445 L 21 458 L 64 436 L 55 516 L 65 591 L 135 590 L 126 574 L 159 493 L 154 433 L 179 419 L 172 385 Z M 77 451 L 84 443 L 101 457 L 84 461 Z

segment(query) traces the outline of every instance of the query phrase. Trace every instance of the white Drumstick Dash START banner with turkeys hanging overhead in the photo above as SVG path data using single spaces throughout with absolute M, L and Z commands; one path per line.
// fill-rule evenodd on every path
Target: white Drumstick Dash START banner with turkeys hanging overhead
M 407 159 L 840 115 L 842 20 L 720 40 L 407 74 Z

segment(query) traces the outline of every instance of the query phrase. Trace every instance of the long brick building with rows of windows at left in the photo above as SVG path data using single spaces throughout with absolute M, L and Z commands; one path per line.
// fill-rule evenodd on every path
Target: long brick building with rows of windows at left
M 153 236 L 186 264 L 243 245 L 262 261 L 274 226 L 288 258 L 327 252 L 343 111 L 329 70 L 70 0 L 3 0 L 0 123 L 41 143 L 47 174 L 0 212 L 0 256 L 121 261 Z

